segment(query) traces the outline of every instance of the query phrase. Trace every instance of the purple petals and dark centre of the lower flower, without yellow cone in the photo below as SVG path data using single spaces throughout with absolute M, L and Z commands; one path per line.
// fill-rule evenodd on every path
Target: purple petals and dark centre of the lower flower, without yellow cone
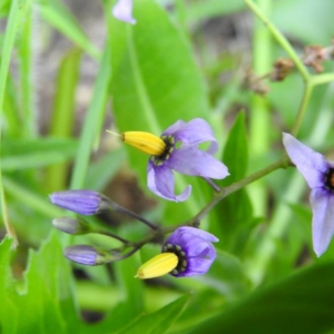
M 161 249 L 178 257 L 177 266 L 169 274 L 175 277 L 205 274 L 216 258 L 216 249 L 212 244 L 216 242 L 218 239 L 205 230 L 187 226 L 177 228 Z

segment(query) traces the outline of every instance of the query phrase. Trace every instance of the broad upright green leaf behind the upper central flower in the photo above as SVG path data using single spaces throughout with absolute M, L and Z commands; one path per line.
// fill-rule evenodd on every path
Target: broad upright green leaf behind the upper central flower
M 180 30 L 151 0 L 135 1 L 134 14 L 137 19 L 134 27 L 110 16 L 111 91 L 119 130 L 144 130 L 160 136 L 178 119 L 207 119 L 206 89 L 193 51 Z M 144 186 L 148 156 L 131 147 L 127 149 L 131 168 L 138 173 Z M 187 185 L 184 177 L 176 176 L 177 193 Z M 188 218 L 189 212 L 196 214 L 202 203 L 199 191 L 193 191 L 181 210 L 177 204 L 170 205 L 181 219 Z

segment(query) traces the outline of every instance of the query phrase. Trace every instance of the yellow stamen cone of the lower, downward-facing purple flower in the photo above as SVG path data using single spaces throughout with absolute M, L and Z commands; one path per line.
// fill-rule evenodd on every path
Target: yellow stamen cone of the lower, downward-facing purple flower
M 159 277 L 170 273 L 177 264 L 178 257 L 174 253 L 161 253 L 141 265 L 135 277 L 140 279 Z

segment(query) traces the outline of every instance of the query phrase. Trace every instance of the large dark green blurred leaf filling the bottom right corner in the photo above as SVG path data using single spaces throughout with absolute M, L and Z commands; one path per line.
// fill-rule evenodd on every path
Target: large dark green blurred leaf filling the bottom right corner
M 190 333 L 327 333 L 334 328 L 333 276 L 334 263 L 310 266 L 249 294 Z

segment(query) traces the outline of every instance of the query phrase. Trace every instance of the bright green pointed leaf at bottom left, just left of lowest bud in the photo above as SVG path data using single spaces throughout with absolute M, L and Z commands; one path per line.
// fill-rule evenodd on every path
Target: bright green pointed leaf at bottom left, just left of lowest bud
M 71 269 L 62 255 L 57 233 L 39 253 L 30 252 L 26 286 L 20 299 L 18 333 L 66 333 L 79 317 L 72 299 Z M 33 310 L 33 312 L 26 312 Z

